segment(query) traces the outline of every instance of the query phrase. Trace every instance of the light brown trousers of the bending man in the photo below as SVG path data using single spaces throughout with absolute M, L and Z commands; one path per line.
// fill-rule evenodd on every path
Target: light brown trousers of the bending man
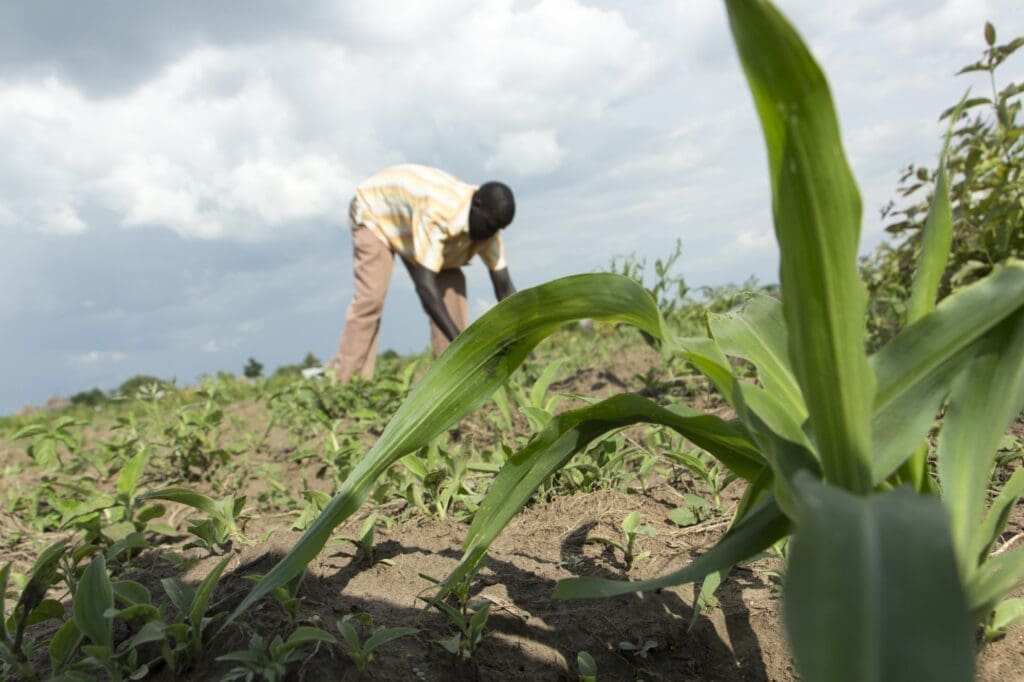
M 345 315 L 338 354 L 332 363 L 341 381 L 348 381 L 356 374 L 365 379 L 374 376 L 381 315 L 393 265 L 394 254 L 383 241 L 365 225 L 352 225 L 355 293 Z M 437 284 L 452 322 L 460 331 L 466 329 L 469 321 L 466 276 L 459 268 L 441 270 Z M 433 321 L 430 321 L 430 345 L 434 355 L 440 355 L 449 346 L 449 340 Z

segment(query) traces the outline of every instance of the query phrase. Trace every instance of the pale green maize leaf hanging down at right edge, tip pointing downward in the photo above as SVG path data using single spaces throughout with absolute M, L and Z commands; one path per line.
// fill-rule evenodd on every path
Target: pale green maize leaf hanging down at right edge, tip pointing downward
M 956 378 L 939 433 L 939 481 L 964 576 L 977 565 L 974 546 L 995 451 L 1022 409 L 1024 310 L 993 330 Z

